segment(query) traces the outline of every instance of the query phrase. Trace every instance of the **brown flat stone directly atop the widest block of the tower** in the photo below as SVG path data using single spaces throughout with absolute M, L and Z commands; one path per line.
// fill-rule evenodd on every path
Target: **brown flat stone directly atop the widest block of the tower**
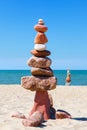
M 42 69 L 33 67 L 31 73 L 34 76 L 53 76 L 53 71 L 50 68 Z

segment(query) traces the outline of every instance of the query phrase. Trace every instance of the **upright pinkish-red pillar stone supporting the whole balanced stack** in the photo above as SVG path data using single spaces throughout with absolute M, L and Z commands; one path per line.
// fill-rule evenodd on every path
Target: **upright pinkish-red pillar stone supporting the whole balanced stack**
M 43 114 L 44 120 L 50 118 L 50 100 L 47 91 L 36 91 L 34 106 L 30 112 L 30 116 L 35 111 L 40 111 Z

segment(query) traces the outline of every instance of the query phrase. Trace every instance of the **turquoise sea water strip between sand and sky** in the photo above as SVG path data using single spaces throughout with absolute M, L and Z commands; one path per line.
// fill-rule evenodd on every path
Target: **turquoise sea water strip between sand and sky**
M 57 85 L 65 85 L 66 70 L 53 70 Z M 71 85 L 87 85 L 87 70 L 70 70 Z M 30 70 L 0 70 L 0 84 L 21 84 L 21 77 L 31 76 Z

